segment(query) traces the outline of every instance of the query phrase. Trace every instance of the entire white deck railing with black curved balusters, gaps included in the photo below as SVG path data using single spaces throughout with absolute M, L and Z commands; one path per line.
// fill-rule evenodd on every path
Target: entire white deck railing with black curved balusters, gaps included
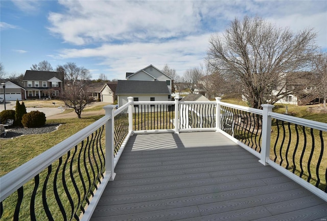
M 327 124 L 262 106 L 132 97 L 118 109 L 107 105 L 103 118 L 0 178 L 0 217 L 88 220 L 134 133 L 220 132 L 327 201 Z

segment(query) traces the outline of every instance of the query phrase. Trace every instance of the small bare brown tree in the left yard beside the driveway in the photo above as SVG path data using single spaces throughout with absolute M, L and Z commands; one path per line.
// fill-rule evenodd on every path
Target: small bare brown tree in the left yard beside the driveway
M 65 92 L 60 97 L 65 106 L 75 110 L 78 118 L 81 118 L 82 110 L 94 101 L 93 97 L 87 96 L 87 87 L 81 82 L 65 87 Z

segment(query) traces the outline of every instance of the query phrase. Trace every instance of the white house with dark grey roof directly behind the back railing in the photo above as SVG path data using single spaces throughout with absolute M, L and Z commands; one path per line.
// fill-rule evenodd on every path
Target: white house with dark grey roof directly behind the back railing
M 119 106 L 126 104 L 128 97 L 133 97 L 134 101 L 171 100 L 166 81 L 118 80 L 116 95 Z

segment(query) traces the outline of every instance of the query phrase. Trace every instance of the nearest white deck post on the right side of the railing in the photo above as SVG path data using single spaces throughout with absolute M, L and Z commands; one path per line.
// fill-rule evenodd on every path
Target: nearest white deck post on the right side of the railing
M 269 112 L 272 112 L 274 105 L 262 104 L 263 116 L 262 116 L 262 143 L 261 143 L 261 162 L 263 165 L 268 165 L 267 160 L 270 155 L 270 133 L 271 133 L 271 117 L 268 116 Z

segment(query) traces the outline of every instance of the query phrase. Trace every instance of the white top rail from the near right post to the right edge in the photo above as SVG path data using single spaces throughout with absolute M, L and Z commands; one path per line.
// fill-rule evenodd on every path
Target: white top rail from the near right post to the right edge
M 297 118 L 297 117 L 284 115 L 284 114 L 273 113 L 273 112 L 269 112 L 268 115 L 275 118 L 275 119 L 278 119 L 278 120 L 283 120 L 283 121 L 286 121 L 286 122 L 290 122 L 290 123 L 301 125 L 301 126 L 310 127 L 310 128 L 317 129 L 317 130 L 327 131 L 327 124 L 326 123 L 307 120 L 307 119 L 303 119 L 303 118 Z

